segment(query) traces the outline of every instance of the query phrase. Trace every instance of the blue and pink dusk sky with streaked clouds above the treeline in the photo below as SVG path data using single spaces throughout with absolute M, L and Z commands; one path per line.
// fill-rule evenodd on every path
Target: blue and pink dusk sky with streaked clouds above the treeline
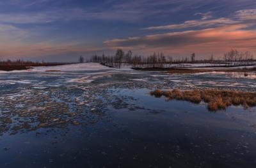
M 256 55 L 255 0 L 0 0 L 0 60 L 74 62 L 116 49 Z

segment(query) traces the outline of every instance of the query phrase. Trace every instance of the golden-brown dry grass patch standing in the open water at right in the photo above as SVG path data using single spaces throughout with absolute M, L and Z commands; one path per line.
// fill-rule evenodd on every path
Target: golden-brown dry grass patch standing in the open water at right
M 226 109 L 230 105 L 242 105 L 245 109 L 256 106 L 256 93 L 242 91 L 226 91 L 216 89 L 202 89 L 193 91 L 161 91 L 159 89 L 150 92 L 150 95 L 161 97 L 165 96 L 166 100 L 186 100 L 192 103 L 207 103 L 209 111 L 218 111 Z

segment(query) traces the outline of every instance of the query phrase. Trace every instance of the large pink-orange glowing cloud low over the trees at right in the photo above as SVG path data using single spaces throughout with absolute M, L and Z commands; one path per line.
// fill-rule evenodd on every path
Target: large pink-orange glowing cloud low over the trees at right
M 256 31 L 243 30 L 244 24 L 221 26 L 198 31 L 153 34 L 104 42 L 109 47 L 133 47 L 145 52 L 165 51 L 169 54 L 190 52 L 224 52 L 230 48 L 256 50 Z

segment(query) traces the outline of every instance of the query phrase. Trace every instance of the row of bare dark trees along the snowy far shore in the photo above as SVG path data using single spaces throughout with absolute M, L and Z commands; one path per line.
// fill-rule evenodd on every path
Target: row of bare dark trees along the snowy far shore
M 169 68 L 182 67 L 186 63 L 209 63 L 205 66 L 248 66 L 256 65 L 256 61 L 250 52 L 239 52 L 237 50 L 230 50 L 224 54 L 223 59 L 214 59 L 211 54 L 209 59 L 196 59 L 196 54 L 191 54 L 190 57 L 182 57 L 173 59 L 172 56 L 164 56 L 163 52 L 154 52 L 150 56 L 133 55 L 129 50 L 124 52 L 122 49 L 117 49 L 116 54 L 112 56 L 98 56 L 97 54 L 90 57 L 88 62 L 102 63 L 106 66 L 113 66 L 120 68 L 122 65 L 132 65 L 133 68 Z

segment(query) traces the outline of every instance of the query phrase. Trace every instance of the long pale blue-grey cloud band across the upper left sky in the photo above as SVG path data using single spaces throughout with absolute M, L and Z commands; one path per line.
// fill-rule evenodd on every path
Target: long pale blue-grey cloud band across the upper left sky
M 27 13 L 2 13 L 0 22 L 8 24 L 45 24 L 49 22 L 67 22 L 71 20 L 140 20 L 143 13 L 133 10 L 86 11 L 80 8 L 49 10 Z

